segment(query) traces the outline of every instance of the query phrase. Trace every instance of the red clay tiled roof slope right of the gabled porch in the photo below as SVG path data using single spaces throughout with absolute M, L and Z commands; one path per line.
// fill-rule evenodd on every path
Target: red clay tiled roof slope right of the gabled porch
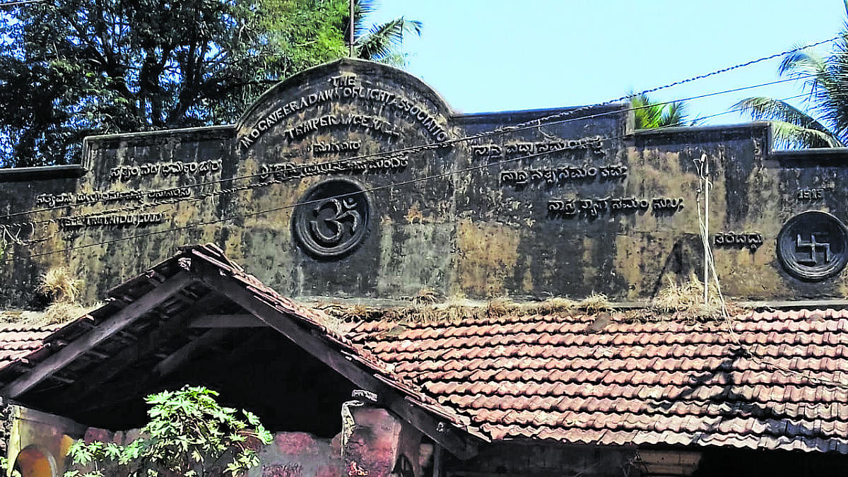
M 493 440 L 848 453 L 848 311 L 735 317 L 742 347 L 725 326 L 512 314 L 349 336 Z

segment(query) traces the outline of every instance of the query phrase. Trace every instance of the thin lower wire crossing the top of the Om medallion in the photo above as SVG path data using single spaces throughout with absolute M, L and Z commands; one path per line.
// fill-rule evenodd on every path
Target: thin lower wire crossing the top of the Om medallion
M 783 98 L 782 100 L 785 101 L 785 100 L 788 100 L 788 99 L 798 98 L 798 97 L 801 97 L 801 96 L 805 96 L 805 95 L 800 94 L 800 95 L 796 95 L 796 96 L 789 97 L 789 98 Z M 714 115 L 704 116 L 703 119 L 708 119 L 708 118 L 719 116 L 719 115 L 727 115 L 727 114 L 730 114 L 730 113 L 737 112 L 739 110 L 741 110 L 741 108 L 739 108 L 739 109 L 729 109 L 727 111 L 723 111 L 721 113 L 717 113 L 717 114 L 714 114 Z M 675 126 L 658 127 L 658 128 L 653 129 L 652 131 L 656 131 L 656 130 L 659 130 L 659 129 L 665 129 L 667 127 L 675 127 Z M 626 135 L 622 134 L 620 136 L 605 137 L 603 140 L 610 141 L 610 140 L 619 139 L 619 138 L 622 138 L 622 137 L 626 137 Z M 526 160 L 526 159 L 532 159 L 534 157 L 538 157 L 538 156 L 542 156 L 542 155 L 555 154 L 555 153 L 562 152 L 563 150 L 569 150 L 569 149 L 577 149 L 577 147 L 576 146 L 575 147 L 566 147 L 565 149 L 559 149 L 559 150 L 556 150 L 556 151 L 545 151 L 545 152 L 542 152 L 542 153 L 526 154 L 526 155 L 522 155 L 522 156 L 519 156 L 519 157 L 510 158 L 510 159 L 505 159 L 505 160 L 491 161 L 491 162 L 487 162 L 485 164 L 481 164 L 481 165 L 478 165 L 478 166 L 471 166 L 471 167 L 466 167 L 466 168 L 463 168 L 463 169 L 458 169 L 458 170 L 455 170 L 455 171 L 442 172 L 442 173 L 439 173 L 439 174 L 434 174 L 432 176 L 416 177 L 415 179 L 410 179 L 408 181 L 391 182 L 391 183 L 388 183 L 386 185 L 377 186 L 377 187 L 373 187 L 373 188 L 366 188 L 366 189 L 361 190 L 361 191 L 351 192 L 351 193 L 347 193 L 347 194 L 338 194 L 338 195 L 334 195 L 330 198 L 306 200 L 304 202 L 298 202 L 298 203 L 295 203 L 295 204 L 280 205 L 278 207 L 273 207 L 271 209 L 258 210 L 258 211 L 255 211 L 255 212 L 248 212 L 248 213 L 244 213 L 244 214 L 233 214 L 231 216 L 220 217 L 220 218 L 212 219 L 212 220 L 209 220 L 209 221 L 193 222 L 193 223 L 189 223 L 189 224 L 186 224 L 184 226 L 181 226 L 181 227 L 171 227 L 171 228 L 165 228 L 165 229 L 162 229 L 162 230 L 153 230 L 151 232 L 137 233 L 135 235 L 130 235 L 130 236 L 126 236 L 126 237 L 119 237 L 119 238 L 116 238 L 116 239 L 103 240 L 101 242 L 96 242 L 96 243 L 93 243 L 93 244 L 75 245 L 75 246 L 67 247 L 67 248 L 60 249 L 60 250 L 47 250 L 47 251 L 44 251 L 44 252 L 39 252 L 39 253 L 36 253 L 36 254 L 31 254 L 31 255 L 25 255 L 25 256 L 20 256 L 20 257 L 11 257 L 11 258 L 7 258 L 7 259 L 3 260 L 0 263 L 8 263 L 8 262 L 19 260 L 19 259 L 21 259 L 21 260 L 22 259 L 31 259 L 31 258 L 34 258 L 34 257 L 37 257 L 37 256 L 42 256 L 42 255 L 54 255 L 54 254 L 59 254 L 59 253 L 63 253 L 63 252 L 71 251 L 71 250 L 87 249 L 87 248 L 90 248 L 90 247 L 97 247 L 99 245 L 114 244 L 115 242 L 121 242 L 121 241 L 124 241 L 124 240 L 141 239 L 143 237 L 149 237 L 151 235 L 157 235 L 159 233 L 178 232 L 178 231 L 186 230 L 186 229 L 189 229 L 189 228 L 203 227 L 205 225 L 210 225 L 210 224 L 213 224 L 213 223 L 226 222 L 226 221 L 236 219 L 236 218 L 246 218 L 246 217 L 252 217 L 252 216 L 260 216 L 262 214 L 266 214 L 266 213 L 270 213 L 270 212 L 276 212 L 278 210 L 286 210 L 286 209 L 292 209 L 294 207 L 298 207 L 298 206 L 301 206 L 301 205 L 315 204 L 317 202 L 321 202 L 321 201 L 324 201 L 326 199 L 343 199 L 345 197 L 351 197 L 351 196 L 358 195 L 358 194 L 365 194 L 365 193 L 374 192 L 374 191 L 377 191 L 377 190 L 382 190 L 382 189 L 387 189 L 387 188 L 397 188 L 397 187 L 400 187 L 400 186 L 409 185 L 409 184 L 416 183 L 416 182 L 429 181 L 429 180 L 432 180 L 432 179 L 449 177 L 449 176 L 464 173 L 464 172 L 477 171 L 477 170 L 485 169 L 485 168 L 492 167 L 492 166 L 499 166 L 501 164 L 505 164 L 505 163 L 509 163 L 509 162 L 515 162 L 517 160 Z

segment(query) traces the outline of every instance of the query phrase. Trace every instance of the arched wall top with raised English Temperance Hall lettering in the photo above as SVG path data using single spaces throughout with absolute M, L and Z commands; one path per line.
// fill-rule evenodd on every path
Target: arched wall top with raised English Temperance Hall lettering
M 426 83 L 361 59 L 315 66 L 271 87 L 236 124 L 237 151 L 284 143 L 300 156 L 449 139 L 453 115 Z

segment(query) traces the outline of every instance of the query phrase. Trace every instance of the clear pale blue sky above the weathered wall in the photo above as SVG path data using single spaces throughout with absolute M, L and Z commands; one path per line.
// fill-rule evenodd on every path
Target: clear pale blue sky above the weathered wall
M 382 0 L 371 20 L 424 24 L 407 70 L 461 112 L 600 103 L 835 36 L 841 0 Z M 820 47 L 823 53 L 829 45 Z M 775 81 L 773 59 L 655 93 L 661 101 Z M 690 116 L 740 98 L 786 98 L 789 82 L 689 102 Z M 745 121 L 728 114 L 707 124 Z

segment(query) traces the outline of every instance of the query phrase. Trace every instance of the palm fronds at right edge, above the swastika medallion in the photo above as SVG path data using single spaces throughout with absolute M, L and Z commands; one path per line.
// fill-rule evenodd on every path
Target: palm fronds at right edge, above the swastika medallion
M 845 11 L 848 13 L 848 0 Z M 762 96 L 745 98 L 733 108 L 742 109 L 755 121 L 772 121 L 778 148 L 848 145 L 848 25 L 828 56 L 811 49 L 789 53 L 778 66 L 778 75 L 802 81 L 806 110 Z

